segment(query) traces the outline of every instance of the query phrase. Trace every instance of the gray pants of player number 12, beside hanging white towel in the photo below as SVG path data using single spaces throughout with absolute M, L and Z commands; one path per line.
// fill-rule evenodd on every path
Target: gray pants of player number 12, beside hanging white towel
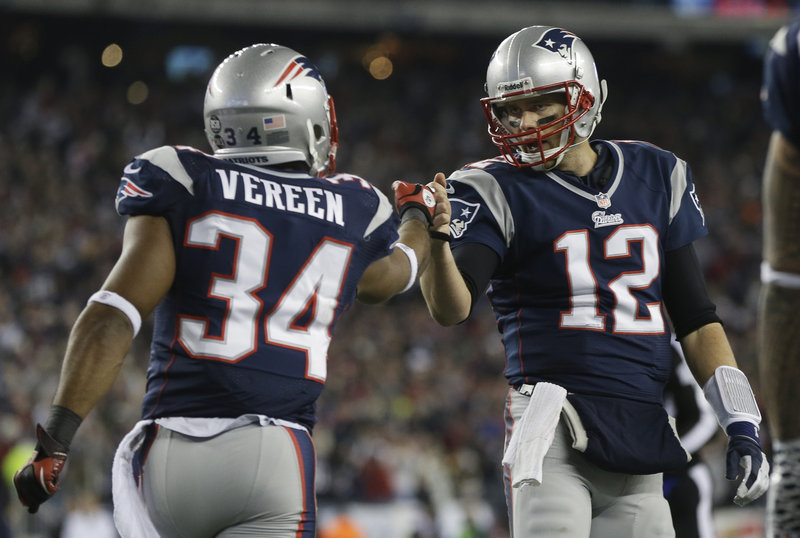
M 509 411 L 516 422 L 530 398 L 509 391 Z M 604 471 L 572 448 L 563 418 L 542 466 L 542 484 L 511 487 L 504 482 L 513 538 L 656 538 L 674 537 L 661 474 L 629 475 Z

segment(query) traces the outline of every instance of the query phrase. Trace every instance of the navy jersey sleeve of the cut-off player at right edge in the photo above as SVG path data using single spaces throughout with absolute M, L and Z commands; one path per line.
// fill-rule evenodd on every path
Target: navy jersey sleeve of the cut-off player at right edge
M 799 37 L 800 21 L 797 21 L 781 28 L 772 38 L 764 59 L 761 91 L 767 123 L 796 146 L 800 146 Z

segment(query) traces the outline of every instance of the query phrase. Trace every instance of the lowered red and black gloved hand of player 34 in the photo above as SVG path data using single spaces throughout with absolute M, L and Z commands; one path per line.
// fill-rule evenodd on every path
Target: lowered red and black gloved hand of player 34
M 67 448 L 36 425 L 36 448 L 31 459 L 14 475 L 20 502 L 35 514 L 39 505 L 58 491 L 59 474 L 67 461 Z

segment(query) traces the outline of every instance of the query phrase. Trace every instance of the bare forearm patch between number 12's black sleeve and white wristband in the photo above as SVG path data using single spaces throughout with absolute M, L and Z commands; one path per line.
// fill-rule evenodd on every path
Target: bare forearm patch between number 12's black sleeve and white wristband
M 702 387 L 720 366 L 736 365 L 725 330 L 719 323 L 709 323 L 681 339 L 686 364 Z

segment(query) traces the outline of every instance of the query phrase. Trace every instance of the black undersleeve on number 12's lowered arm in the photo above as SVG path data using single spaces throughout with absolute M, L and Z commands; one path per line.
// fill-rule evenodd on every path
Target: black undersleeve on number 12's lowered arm
M 665 255 L 664 303 L 680 340 L 709 323 L 722 323 L 706 290 L 705 278 L 691 244 Z

